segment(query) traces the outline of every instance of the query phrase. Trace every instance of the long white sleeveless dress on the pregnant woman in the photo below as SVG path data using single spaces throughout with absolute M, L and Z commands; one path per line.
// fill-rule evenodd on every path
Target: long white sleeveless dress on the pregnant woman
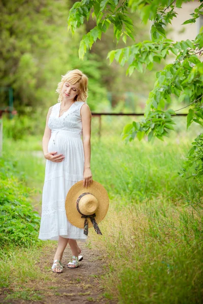
M 62 162 L 46 161 L 42 194 L 42 215 L 39 239 L 58 240 L 58 237 L 84 241 L 83 228 L 72 225 L 66 217 L 65 198 L 69 189 L 83 180 L 84 148 L 80 109 L 85 102 L 75 101 L 59 117 L 61 102 L 54 104 L 48 121 L 51 137 L 48 152 L 65 156 Z

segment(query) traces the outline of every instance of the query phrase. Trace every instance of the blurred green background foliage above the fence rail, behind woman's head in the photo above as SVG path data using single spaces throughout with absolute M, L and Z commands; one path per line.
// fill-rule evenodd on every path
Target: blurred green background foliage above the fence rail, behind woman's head
M 92 46 L 83 61 L 79 59 L 79 43 L 82 36 L 95 26 L 95 21 L 90 16 L 88 23 L 84 23 L 72 37 L 71 32 L 67 32 L 67 16 L 74 3 L 71 0 L 14 0 L 0 4 L 1 108 L 9 105 L 5 88 L 12 87 L 14 108 L 18 114 L 8 125 L 12 129 L 15 126 L 15 139 L 23 133 L 30 134 L 31 130 L 43 134 L 47 111 L 57 102 L 57 84 L 67 70 L 79 68 L 88 76 L 87 103 L 92 111 L 142 111 L 153 88 L 156 65 L 145 74 L 134 71 L 131 77 L 125 76 L 126 66 L 109 65 L 107 54 L 116 47 L 112 40 L 113 27 Z M 149 39 L 149 27 L 135 14 L 133 20 L 136 41 Z M 124 46 L 121 41 L 117 48 Z M 133 92 L 136 97 L 130 97 Z M 123 102 L 130 98 L 135 98 L 137 108 Z M 9 118 L 7 114 L 4 116 Z

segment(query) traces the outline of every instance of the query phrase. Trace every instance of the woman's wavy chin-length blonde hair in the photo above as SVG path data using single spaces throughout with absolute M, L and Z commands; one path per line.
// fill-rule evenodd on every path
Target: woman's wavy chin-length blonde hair
M 69 82 L 71 85 L 75 85 L 77 82 L 79 82 L 79 93 L 75 96 L 75 101 L 84 101 L 86 102 L 88 97 L 88 77 L 85 75 L 81 70 L 79 69 L 72 69 L 70 71 L 67 71 L 65 75 L 61 75 L 61 81 L 58 83 L 58 87 L 56 89 L 56 93 L 59 94 L 58 96 L 58 102 L 61 102 L 63 100 L 63 96 L 61 93 L 62 86 L 64 82 Z

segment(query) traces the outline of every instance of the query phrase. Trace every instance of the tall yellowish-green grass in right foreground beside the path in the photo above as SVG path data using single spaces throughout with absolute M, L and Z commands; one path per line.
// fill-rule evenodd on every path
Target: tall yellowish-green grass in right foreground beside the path
M 202 206 L 113 203 L 99 223 L 110 273 L 106 297 L 117 303 L 202 303 Z M 96 237 L 95 237 L 96 238 Z

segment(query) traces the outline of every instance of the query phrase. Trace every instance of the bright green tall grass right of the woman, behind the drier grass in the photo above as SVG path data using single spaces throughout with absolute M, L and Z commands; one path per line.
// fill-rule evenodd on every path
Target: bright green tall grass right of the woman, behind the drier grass
M 120 198 L 119 205 L 146 199 L 179 204 L 186 196 L 189 200 L 202 196 L 201 185 L 178 175 L 189 140 L 125 144 L 119 138 L 104 138 L 92 143 L 93 179 L 106 187 L 112 199 Z

